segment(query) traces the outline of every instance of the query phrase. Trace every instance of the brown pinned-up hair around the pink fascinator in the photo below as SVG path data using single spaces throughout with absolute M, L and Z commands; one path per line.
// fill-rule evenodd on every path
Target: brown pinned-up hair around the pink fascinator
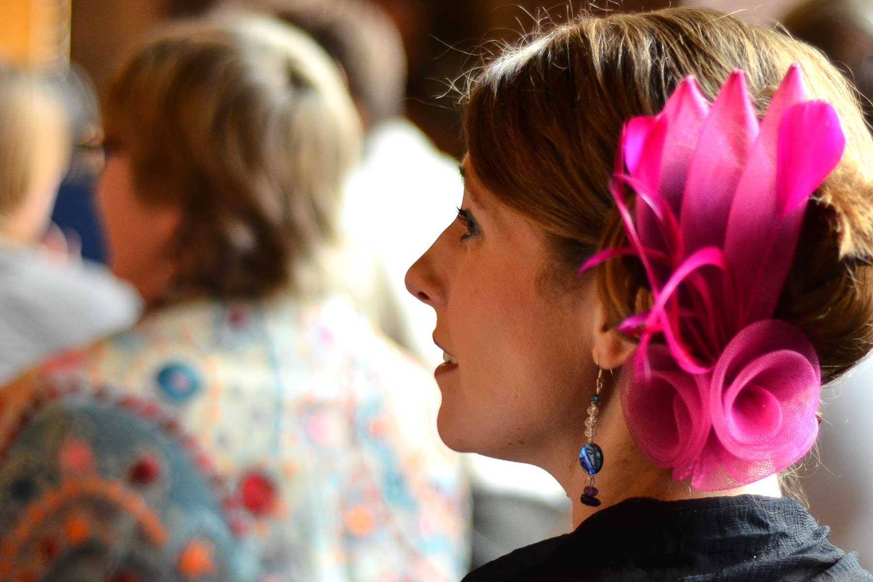
M 832 380 L 873 346 L 873 141 L 856 93 L 811 47 L 712 10 L 583 14 L 471 79 L 470 160 L 492 195 L 545 230 L 559 274 L 572 274 L 595 250 L 622 244 L 608 182 L 626 120 L 660 111 L 688 75 L 713 99 L 734 69 L 763 114 L 794 62 L 809 92 L 835 106 L 847 147 L 809 204 L 776 317 L 808 334 Z M 632 259 L 602 266 L 598 281 L 612 325 L 648 298 Z

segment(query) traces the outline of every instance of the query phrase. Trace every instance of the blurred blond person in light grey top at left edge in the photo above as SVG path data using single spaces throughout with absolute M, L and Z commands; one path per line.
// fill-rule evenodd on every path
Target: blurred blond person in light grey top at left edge
M 57 86 L 0 65 L 0 381 L 132 325 L 140 301 L 50 223 L 72 149 Z

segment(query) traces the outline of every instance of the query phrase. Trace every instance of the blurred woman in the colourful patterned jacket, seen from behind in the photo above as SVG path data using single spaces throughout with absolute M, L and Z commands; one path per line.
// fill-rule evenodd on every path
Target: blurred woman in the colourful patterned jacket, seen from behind
M 8 569 L 457 579 L 464 487 L 436 391 L 329 269 L 361 133 L 329 58 L 271 20 L 182 25 L 127 60 L 105 123 L 110 265 L 148 311 L 3 391 Z

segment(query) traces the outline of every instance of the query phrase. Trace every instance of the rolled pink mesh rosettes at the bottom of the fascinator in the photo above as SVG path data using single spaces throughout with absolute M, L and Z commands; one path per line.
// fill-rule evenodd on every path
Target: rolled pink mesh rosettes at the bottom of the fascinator
M 687 373 L 649 346 L 622 373 L 631 435 L 658 467 L 698 490 L 725 490 L 785 469 L 815 442 L 818 359 L 793 325 L 768 319 L 734 337 L 711 372 Z

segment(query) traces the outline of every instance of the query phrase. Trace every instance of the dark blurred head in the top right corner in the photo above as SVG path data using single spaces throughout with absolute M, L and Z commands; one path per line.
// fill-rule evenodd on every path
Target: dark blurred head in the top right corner
M 808 0 L 782 19 L 794 38 L 821 49 L 873 99 L 873 4 L 866 0 Z M 873 106 L 863 103 L 873 127 Z

